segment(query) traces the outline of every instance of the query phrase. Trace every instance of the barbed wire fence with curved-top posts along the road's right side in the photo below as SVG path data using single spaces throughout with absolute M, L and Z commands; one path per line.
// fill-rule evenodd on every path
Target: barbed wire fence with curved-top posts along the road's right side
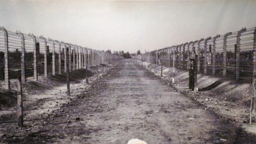
M 252 111 L 256 109 L 256 27 L 165 47 L 134 55 L 132 58 L 173 67 L 173 70 L 189 70 L 190 59 L 195 55 L 198 55 L 197 74 L 229 77 L 239 82 L 252 83 L 251 123 Z

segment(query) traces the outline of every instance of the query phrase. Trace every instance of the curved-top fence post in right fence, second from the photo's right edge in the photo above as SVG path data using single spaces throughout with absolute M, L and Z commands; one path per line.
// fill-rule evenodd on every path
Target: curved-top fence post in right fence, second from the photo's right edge
M 237 39 L 236 39 L 236 81 L 239 80 L 239 64 L 240 64 L 240 37 L 241 34 L 246 31 L 246 28 L 242 28 L 237 33 Z

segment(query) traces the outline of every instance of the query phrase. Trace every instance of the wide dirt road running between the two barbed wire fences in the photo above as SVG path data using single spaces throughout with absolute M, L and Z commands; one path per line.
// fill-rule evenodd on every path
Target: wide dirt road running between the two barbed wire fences
M 26 137 L 5 141 L 107 144 L 139 138 L 149 144 L 222 143 L 222 126 L 210 111 L 133 60 L 122 60 L 90 91 L 34 122 Z

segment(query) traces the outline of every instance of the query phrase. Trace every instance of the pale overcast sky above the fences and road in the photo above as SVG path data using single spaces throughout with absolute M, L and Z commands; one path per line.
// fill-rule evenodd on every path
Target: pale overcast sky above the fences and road
M 96 50 L 141 52 L 256 26 L 256 1 L 1 1 L 0 25 Z

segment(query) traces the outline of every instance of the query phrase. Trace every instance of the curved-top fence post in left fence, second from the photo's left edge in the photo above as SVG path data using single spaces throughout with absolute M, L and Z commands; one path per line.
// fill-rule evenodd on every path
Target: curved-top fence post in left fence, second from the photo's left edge
M 25 75 L 25 39 L 23 34 L 20 31 L 17 31 L 17 34 L 21 37 L 21 82 L 26 82 Z

